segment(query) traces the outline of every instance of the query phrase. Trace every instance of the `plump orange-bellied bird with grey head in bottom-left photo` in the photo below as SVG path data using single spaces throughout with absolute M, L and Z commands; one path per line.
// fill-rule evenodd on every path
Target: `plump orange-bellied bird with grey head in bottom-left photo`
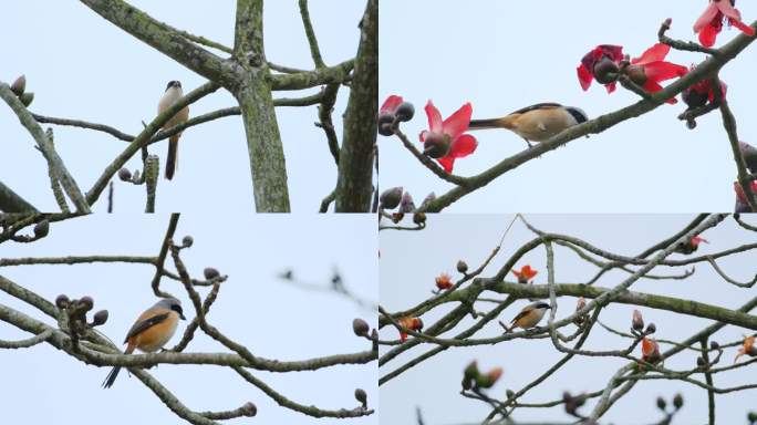
M 145 353 L 154 353 L 163 348 L 176 332 L 178 320 L 186 320 L 182 310 L 182 302 L 175 298 L 164 298 L 155 305 L 145 310 L 128 330 L 124 343 L 124 354 L 132 354 L 134 349 Z M 110 388 L 115 382 L 121 366 L 114 366 L 103 382 L 104 388 Z

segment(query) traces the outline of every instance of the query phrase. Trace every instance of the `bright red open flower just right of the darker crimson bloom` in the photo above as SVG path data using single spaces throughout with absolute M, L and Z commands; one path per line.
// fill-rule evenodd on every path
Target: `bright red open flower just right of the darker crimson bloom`
M 671 46 L 663 43 L 651 46 L 641 56 L 631 60 L 626 69 L 629 77 L 646 92 L 655 93 L 663 89 L 661 81 L 685 75 L 688 72 L 686 66 L 663 61 L 670 51 Z M 667 100 L 670 104 L 676 102 L 675 97 Z

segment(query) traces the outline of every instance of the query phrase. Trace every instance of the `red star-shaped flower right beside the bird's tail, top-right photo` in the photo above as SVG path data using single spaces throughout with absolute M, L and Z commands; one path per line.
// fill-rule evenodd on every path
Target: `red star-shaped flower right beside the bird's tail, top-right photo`
M 442 121 L 442 114 L 434 103 L 428 101 L 426 104 L 428 129 L 421 132 L 419 138 L 424 143 L 425 153 L 435 158 L 447 173 L 452 173 L 455 159 L 473 154 L 478 146 L 476 137 L 464 134 L 470 125 L 471 114 L 473 106 L 466 103 Z

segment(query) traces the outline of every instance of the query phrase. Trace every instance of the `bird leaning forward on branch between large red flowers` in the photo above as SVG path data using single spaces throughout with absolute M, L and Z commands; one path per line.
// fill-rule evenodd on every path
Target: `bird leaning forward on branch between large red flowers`
M 587 114 L 559 103 L 537 103 L 500 118 L 471 120 L 470 129 L 506 128 L 531 142 L 545 142 L 566 128 L 589 121 Z

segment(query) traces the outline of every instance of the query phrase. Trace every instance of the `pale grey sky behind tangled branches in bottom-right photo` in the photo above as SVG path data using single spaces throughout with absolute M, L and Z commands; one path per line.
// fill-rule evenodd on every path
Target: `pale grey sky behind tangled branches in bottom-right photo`
M 650 215 L 650 216 L 556 216 L 529 215 L 530 222 L 542 230 L 578 236 L 599 248 L 621 255 L 637 255 L 656 241 L 664 239 L 687 225 L 692 216 L 681 215 Z M 428 227 L 423 231 L 382 231 L 380 235 L 381 266 L 380 284 L 381 302 L 390 312 L 405 310 L 416 305 L 431 296 L 434 289 L 434 278 L 440 272 L 449 272 L 457 279 L 455 263 L 463 259 L 471 269 L 491 252 L 504 230 L 512 219 L 506 215 L 437 215 L 428 219 Z M 747 221 L 757 224 L 757 217 L 749 217 Z M 757 237 L 747 232 L 728 219 L 703 235 L 711 245 L 703 245 L 697 253 L 716 252 L 743 243 L 754 242 Z M 533 238 L 521 224 L 517 222 L 505 238 L 505 243 L 498 257 L 481 274 L 494 276 L 523 242 Z M 578 259 L 572 251 L 561 247 L 556 249 L 556 276 L 558 282 L 579 282 L 593 277 L 597 268 Z M 673 255 L 673 258 L 682 258 Z M 718 265 L 734 279 L 750 280 L 755 270 L 754 251 L 727 259 L 718 260 Z M 546 282 L 546 259 L 543 248 L 527 255 L 518 267 L 530 263 L 539 271 L 536 283 Z M 655 269 L 655 273 L 682 272 L 683 269 Z M 612 272 L 605 274 L 597 284 L 614 287 L 625 273 Z M 508 276 L 511 279 L 511 274 Z M 666 294 L 685 298 L 699 302 L 707 302 L 726 308 L 738 308 L 755 297 L 754 289 L 739 289 L 723 281 L 708 266 L 698 265 L 695 274 L 687 280 L 643 280 L 631 287 L 631 290 Z M 487 298 L 502 298 L 485 293 Z M 509 321 L 528 303 L 527 300 L 517 301 L 502 314 L 502 321 Z M 488 310 L 492 304 L 477 304 L 478 310 Z M 574 298 L 559 298 L 557 318 L 563 318 L 573 312 Z M 450 310 L 445 307 L 439 311 L 424 315 L 426 325 L 431 325 L 443 313 Z M 604 310 L 600 320 L 611 326 L 628 331 L 631 325 L 632 305 L 613 304 Z M 705 328 L 712 321 L 697 318 L 677 317 L 665 311 L 644 309 L 645 321 L 654 322 L 657 326 L 656 338 L 683 340 Z M 465 319 L 458 329 L 466 329 L 473 324 L 470 318 Z M 382 330 L 382 339 L 396 339 L 397 333 L 391 326 Z M 574 329 L 571 325 L 571 329 Z M 750 332 L 746 329 L 727 326 L 716 334 L 715 340 L 725 343 L 742 338 Z M 452 338 L 457 331 L 443 334 Z M 485 326 L 476 338 L 496 336 L 501 334 L 501 328 L 494 323 Z M 585 349 L 611 350 L 626 348 L 629 340 L 614 336 L 601 328 L 594 328 Z M 666 350 L 667 345 L 661 349 Z M 393 360 L 380 370 L 381 375 L 404 364 L 416 355 L 428 351 L 428 344 L 409 350 L 403 356 Z M 384 350 L 385 352 L 385 350 Z M 639 355 L 636 349 L 634 355 Z M 409 354 L 408 354 L 409 353 Z M 736 349 L 728 349 L 722 364 L 732 364 Z M 505 391 L 520 390 L 550 367 L 562 356 L 548 340 L 501 343 L 494 346 L 479 345 L 474 348 L 453 348 L 438 354 L 418 366 L 403 373 L 398 377 L 380 387 L 382 398 L 382 423 L 411 424 L 415 423 L 415 407 L 419 406 L 429 425 L 473 424 L 480 422 L 489 412 L 481 402 L 464 398 L 459 395 L 463 369 L 474 359 L 483 370 L 495 366 L 504 367 L 500 381 L 489 391 L 495 397 L 504 398 Z M 696 359 L 693 354 L 678 354 L 665 362 L 665 366 L 673 370 L 686 370 L 694 366 Z M 563 369 L 550 380 L 531 390 L 522 402 L 547 402 L 557 400 L 568 390 L 574 394 L 592 392 L 603 388 L 609 377 L 626 361 L 612 357 L 573 357 Z M 693 376 L 697 380 L 702 375 Z M 754 367 L 737 370 L 733 373 L 715 375 L 715 384 L 720 387 L 737 384 L 754 383 Z M 699 387 L 681 382 L 642 381 L 634 390 L 615 404 L 613 410 L 604 416 L 606 423 L 615 424 L 649 424 L 661 418 L 655 407 L 655 398 L 662 395 L 670 398 L 682 392 L 685 397 L 684 410 L 674 421 L 677 424 L 701 424 L 706 422 L 706 392 Z M 747 410 L 754 410 L 755 392 L 740 392 L 717 395 L 717 423 L 745 423 Z M 591 412 L 593 403 L 588 403 L 581 412 Z M 570 417 L 562 406 L 548 411 L 519 408 L 515 418 L 518 421 L 553 421 L 566 422 Z

